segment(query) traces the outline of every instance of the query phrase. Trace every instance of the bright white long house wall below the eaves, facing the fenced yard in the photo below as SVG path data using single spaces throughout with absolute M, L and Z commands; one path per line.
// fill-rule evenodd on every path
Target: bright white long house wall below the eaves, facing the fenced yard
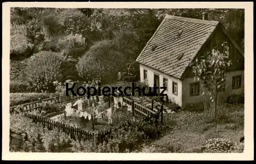
M 143 70 L 147 70 L 147 81 L 144 81 L 143 79 Z M 174 77 L 171 77 L 169 75 L 166 75 L 164 73 L 161 73 L 159 71 L 156 71 L 155 69 L 145 66 L 143 64 L 140 64 L 140 82 L 146 82 L 148 86 L 153 87 L 154 86 L 154 74 L 159 75 L 159 83 L 160 87 L 163 86 L 163 78 L 168 79 L 168 90 L 165 90 L 164 93 L 168 95 L 169 100 L 173 101 L 173 98 L 175 99 L 175 102 L 182 105 L 182 81 L 179 79 L 176 79 Z M 173 81 L 178 83 L 178 94 L 173 94 Z M 162 89 L 160 89 L 162 90 Z

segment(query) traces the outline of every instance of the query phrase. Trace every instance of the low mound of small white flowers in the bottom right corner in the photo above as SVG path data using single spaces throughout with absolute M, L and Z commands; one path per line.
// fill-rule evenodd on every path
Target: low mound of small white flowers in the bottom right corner
M 228 139 L 212 138 L 207 140 L 202 149 L 205 153 L 232 153 L 237 147 Z

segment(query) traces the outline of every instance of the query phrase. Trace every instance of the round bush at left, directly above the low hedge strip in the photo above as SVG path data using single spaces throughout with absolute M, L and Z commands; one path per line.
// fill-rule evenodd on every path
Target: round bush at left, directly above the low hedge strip
M 61 75 L 60 66 L 63 56 L 52 51 L 41 51 L 33 55 L 26 67 L 28 81 L 36 91 L 54 91 L 53 82 Z

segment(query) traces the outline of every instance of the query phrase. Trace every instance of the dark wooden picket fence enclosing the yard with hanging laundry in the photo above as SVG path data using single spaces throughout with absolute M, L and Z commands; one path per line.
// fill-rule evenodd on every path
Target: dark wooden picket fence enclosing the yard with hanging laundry
M 73 97 L 72 100 L 78 100 L 80 98 L 81 97 Z M 62 101 L 61 101 L 60 97 L 53 97 L 53 98 L 38 100 L 35 102 L 26 103 L 26 104 L 22 104 L 22 105 L 18 105 L 18 106 L 23 106 L 25 108 L 25 110 L 23 112 L 25 113 L 26 116 L 28 116 L 28 118 L 32 119 L 33 122 L 41 123 L 44 127 L 47 127 L 49 130 L 57 128 L 58 130 L 61 130 L 62 132 L 70 135 L 72 139 L 78 139 L 78 140 L 84 140 L 84 141 L 85 140 L 98 140 L 99 143 L 103 143 L 104 140 L 108 140 L 111 137 L 111 134 L 113 131 L 115 131 L 119 128 L 122 128 L 122 127 L 130 126 L 130 124 L 131 124 L 131 121 L 127 120 L 122 125 L 111 128 L 110 130 L 105 130 L 100 133 L 95 133 L 94 131 L 91 132 L 91 131 L 84 130 L 82 128 L 75 128 L 73 126 L 70 126 L 70 125 L 67 125 L 67 124 L 64 124 L 61 122 L 53 121 L 49 118 L 46 118 L 45 116 L 39 116 L 39 115 L 34 115 L 31 113 L 28 113 L 31 110 L 41 108 L 42 102 L 49 102 L 49 101 L 54 104 L 57 103 L 57 104 L 62 105 Z M 130 99 L 127 96 L 123 96 L 123 101 L 132 106 L 133 115 L 135 115 L 135 113 L 136 113 L 136 114 L 145 116 L 147 118 L 155 118 L 155 120 L 157 121 L 159 119 L 159 115 L 161 113 L 161 122 L 163 122 L 163 106 L 161 107 L 160 111 L 155 112 L 152 109 L 135 102 L 134 100 Z M 154 103 L 154 102 L 152 102 L 152 103 Z M 14 113 L 15 108 L 17 108 L 18 106 L 10 107 L 10 113 L 11 114 Z M 153 106 L 153 104 L 152 104 L 152 106 Z

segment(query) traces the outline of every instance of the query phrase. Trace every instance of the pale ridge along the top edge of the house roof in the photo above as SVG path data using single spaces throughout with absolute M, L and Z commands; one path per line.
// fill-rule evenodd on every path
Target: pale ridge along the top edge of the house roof
M 174 15 L 168 15 L 166 14 L 165 19 L 176 19 L 176 20 L 181 20 L 181 21 L 189 21 L 189 22 L 194 22 L 197 23 L 199 22 L 200 24 L 208 24 L 208 25 L 216 25 L 219 23 L 219 21 L 216 20 L 203 20 L 203 19 L 195 19 L 195 18 L 188 18 L 188 17 L 181 17 L 181 16 L 174 16 Z M 195 22 L 197 21 L 197 22 Z

